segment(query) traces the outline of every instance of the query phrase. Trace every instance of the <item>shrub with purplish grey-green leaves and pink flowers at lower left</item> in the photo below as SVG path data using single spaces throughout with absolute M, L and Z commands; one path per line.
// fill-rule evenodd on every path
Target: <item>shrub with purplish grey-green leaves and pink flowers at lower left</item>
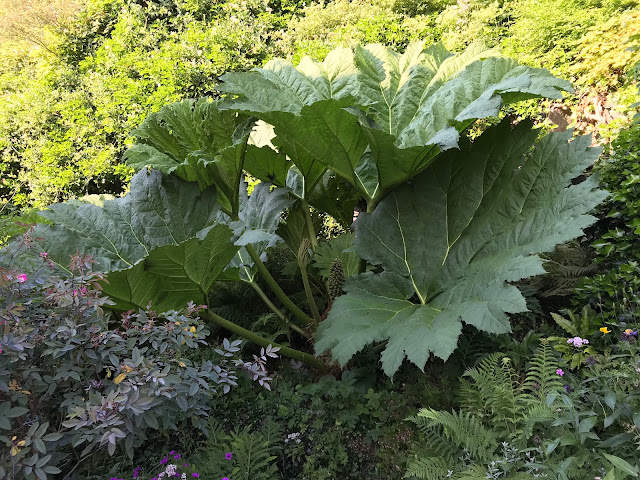
M 74 257 L 68 279 L 49 277 L 45 253 L 12 268 L 29 245 L 0 267 L 0 475 L 46 479 L 102 449 L 131 457 L 154 430 L 206 429 L 208 402 L 236 384 L 235 367 L 251 369 L 234 359 L 239 342 L 225 340 L 215 364 L 191 362 L 209 334 L 192 305 L 109 326 L 90 259 Z

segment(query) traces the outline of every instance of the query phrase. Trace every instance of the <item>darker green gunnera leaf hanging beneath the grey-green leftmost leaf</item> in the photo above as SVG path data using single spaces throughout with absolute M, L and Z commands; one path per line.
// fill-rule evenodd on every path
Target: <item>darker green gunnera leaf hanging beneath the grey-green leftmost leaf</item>
M 233 232 L 216 225 L 204 238 L 151 251 L 133 267 L 111 272 L 103 291 L 116 308 L 151 308 L 158 312 L 184 308 L 189 301 L 207 303 L 213 282 L 237 253 Z

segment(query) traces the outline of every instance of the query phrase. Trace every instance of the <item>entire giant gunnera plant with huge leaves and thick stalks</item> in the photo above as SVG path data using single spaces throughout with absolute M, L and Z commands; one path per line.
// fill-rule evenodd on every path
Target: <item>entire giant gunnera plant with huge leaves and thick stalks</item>
M 323 63 L 274 60 L 223 81 L 232 95 L 222 103 L 175 103 L 134 132 L 126 156 L 142 170 L 127 196 L 43 213 L 54 223 L 36 229 L 43 248 L 58 263 L 71 248 L 95 257 L 116 308 L 204 304 L 216 280 L 241 281 L 287 325 L 255 282 L 259 271 L 299 322 L 289 328 L 306 338 L 335 299 L 315 335 L 318 352 L 331 349 L 344 365 L 365 345 L 389 340 L 382 363 L 392 376 L 405 356 L 420 368 L 431 353 L 448 358 L 462 322 L 509 332 L 506 314 L 526 311 L 526 302 L 507 282 L 543 273 L 535 254 L 580 235 L 593 221 L 585 213 L 603 197 L 593 178 L 565 188 L 597 155 L 585 138 L 568 143 L 570 133 L 552 134 L 534 147 L 530 124 L 512 130 L 503 122 L 459 142 L 460 132 L 498 115 L 503 103 L 570 89 L 479 45 L 460 55 L 424 42 L 403 54 L 381 45 L 339 48 Z M 255 117 L 273 132 L 254 126 Z M 276 186 L 262 182 L 247 197 L 245 173 Z M 309 204 L 348 225 L 359 195 L 367 212 L 354 225 L 355 254 L 344 251 L 347 235 L 332 241 L 338 252 L 326 251 Z M 264 265 L 276 232 L 296 256 L 310 314 Z M 339 258 L 339 281 L 336 270 L 330 285 L 318 282 L 312 258 L 325 279 Z M 353 275 L 367 262 L 378 271 Z M 263 347 L 271 343 L 209 317 Z

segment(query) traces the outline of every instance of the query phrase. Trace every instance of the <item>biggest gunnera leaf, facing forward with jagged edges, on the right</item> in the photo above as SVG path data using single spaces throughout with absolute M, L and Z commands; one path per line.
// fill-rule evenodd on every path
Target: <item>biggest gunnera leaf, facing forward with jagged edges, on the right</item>
M 589 137 L 537 137 L 528 122 L 503 121 L 360 214 L 355 249 L 382 271 L 347 279 L 316 334 L 318 353 L 345 364 L 388 341 L 391 376 L 405 357 L 420 368 L 431 354 L 447 359 L 463 323 L 509 332 L 508 314 L 527 310 L 511 282 L 544 273 L 536 254 L 582 235 L 606 196 L 593 177 L 571 184 L 599 153 Z

